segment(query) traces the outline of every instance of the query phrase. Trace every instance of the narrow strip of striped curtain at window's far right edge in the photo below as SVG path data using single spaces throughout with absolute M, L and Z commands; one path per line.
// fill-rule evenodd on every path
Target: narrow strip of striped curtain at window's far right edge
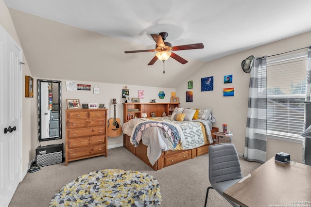
M 306 102 L 310 102 L 310 94 L 311 94 L 311 47 L 308 48 L 308 60 L 307 60 L 307 76 L 306 76 Z M 305 119 L 306 121 L 306 119 Z M 305 127 L 306 123 L 305 123 Z M 306 137 L 302 136 L 302 163 L 306 163 Z

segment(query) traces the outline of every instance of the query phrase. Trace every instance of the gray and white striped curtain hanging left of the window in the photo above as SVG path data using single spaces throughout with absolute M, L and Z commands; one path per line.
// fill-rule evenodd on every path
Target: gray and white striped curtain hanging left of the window
M 264 163 L 267 143 L 267 57 L 255 58 L 249 81 L 246 137 L 243 157 Z

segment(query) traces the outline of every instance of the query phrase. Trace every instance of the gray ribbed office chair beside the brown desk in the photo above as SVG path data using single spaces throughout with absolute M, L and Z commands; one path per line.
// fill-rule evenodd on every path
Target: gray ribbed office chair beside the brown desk
M 233 143 L 210 145 L 208 159 L 208 178 L 211 186 L 207 188 L 204 207 L 207 205 L 209 189 L 216 190 L 232 206 L 240 207 L 223 195 L 226 189 L 242 179 L 240 160 L 235 146 Z

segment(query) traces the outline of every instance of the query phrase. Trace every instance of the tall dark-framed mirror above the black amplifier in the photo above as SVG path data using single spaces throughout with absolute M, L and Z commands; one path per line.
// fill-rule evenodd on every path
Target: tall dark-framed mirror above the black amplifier
M 61 81 L 38 80 L 39 141 L 62 138 Z

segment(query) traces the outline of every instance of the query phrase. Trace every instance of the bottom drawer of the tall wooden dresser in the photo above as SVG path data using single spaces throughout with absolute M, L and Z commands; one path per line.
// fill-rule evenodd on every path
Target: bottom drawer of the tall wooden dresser
M 105 154 L 105 145 L 90 146 L 78 149 L 68 150 L 68 159 L 75 160 L 87 157 L 93 157 L 94 155 Z

